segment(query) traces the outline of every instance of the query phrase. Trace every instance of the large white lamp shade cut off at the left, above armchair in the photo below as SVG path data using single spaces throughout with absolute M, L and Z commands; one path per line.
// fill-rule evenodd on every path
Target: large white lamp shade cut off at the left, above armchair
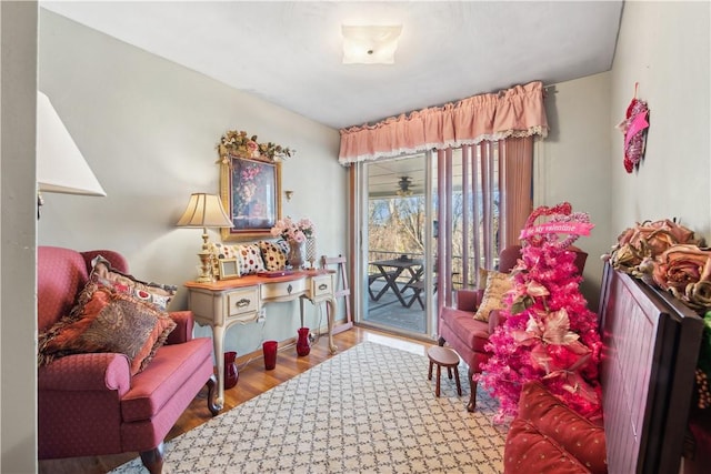
M 107 195 L 49 98 L 37 92 L 37 182 L 42 192 Z

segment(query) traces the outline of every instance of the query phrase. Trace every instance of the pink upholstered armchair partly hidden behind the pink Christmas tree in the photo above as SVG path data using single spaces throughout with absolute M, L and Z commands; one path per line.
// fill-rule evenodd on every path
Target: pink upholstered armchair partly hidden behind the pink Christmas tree
M 575 251 L 575 266 L 580 274 L 585 266 L 588 254 L 578 248 L 571 246 Z M 521 256 L 521 246 L 511 245 L 499 254 L 499 271 L 509 273 Z M 477 407 L 477 381 L 474 374 L 481 372 L 481 364 L 487 362 L 491 353 L 484 350 L 489 342 L 489 334 L 492 334 L 498 325 L 503 324 L 502 316 L 498 310 L 491 311 L 489 321 L 483 322 L 473 317 L 477 309 L 482 302 L 483 290 L 459 290 L 457 292 L 457 306 L 442 307 L 440 312 L 439 345 L 449 344 L 463 359 L 469 366 L 468 376 L 471 384 L 471 393 L 467 410 L 473 412 Z

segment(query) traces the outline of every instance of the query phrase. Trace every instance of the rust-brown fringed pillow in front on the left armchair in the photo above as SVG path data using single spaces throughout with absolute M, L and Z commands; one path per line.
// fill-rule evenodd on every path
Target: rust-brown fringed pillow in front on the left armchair
M 39 335 L 38 364 L 69 354 L 126 354 L 131 375 L 146 369 L 176 327 L 168 313 L 130 293 L 89 282 L 70 316 Z

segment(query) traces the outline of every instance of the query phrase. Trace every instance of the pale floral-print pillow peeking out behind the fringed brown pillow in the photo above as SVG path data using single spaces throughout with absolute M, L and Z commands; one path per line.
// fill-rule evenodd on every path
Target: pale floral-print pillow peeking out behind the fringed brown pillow
M 111 268 L 111 263 L 101 255 L 91 261 L 92 270 L 89 281 L 101 286 L 126 293 L 152 303 L 161 311 L 168 309 L 168 304 L 176 295 L 178 286 L 160 283 L 147 283 L 132 275 L 121 273 Z

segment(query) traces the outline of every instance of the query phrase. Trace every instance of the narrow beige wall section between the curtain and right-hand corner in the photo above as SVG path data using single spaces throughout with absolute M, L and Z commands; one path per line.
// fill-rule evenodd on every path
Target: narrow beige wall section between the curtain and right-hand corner
M 549 137 L 538 143 L 535 205 L 567 201 L 594 224 L 575 245 L 588 252 L 581 291 L 598 309 L 602 278 L 600 255 L 610 242 L 610 74 L 555 84 L 545 99 Z

